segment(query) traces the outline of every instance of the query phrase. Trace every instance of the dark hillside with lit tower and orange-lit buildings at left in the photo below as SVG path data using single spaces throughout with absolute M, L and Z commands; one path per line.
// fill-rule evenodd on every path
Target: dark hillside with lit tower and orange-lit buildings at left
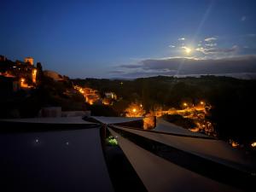
M 32 57 L 11 61 L 0 56 L 1 118 L 59 117 L 85 113 L 83 97 L 67 76 L 44 70 Z M 70 102 L 73 106 L 69 107 Z M 81 103 L 81 104 L 80 104 Z M 89 112 L 86 112 L 89 113 Z

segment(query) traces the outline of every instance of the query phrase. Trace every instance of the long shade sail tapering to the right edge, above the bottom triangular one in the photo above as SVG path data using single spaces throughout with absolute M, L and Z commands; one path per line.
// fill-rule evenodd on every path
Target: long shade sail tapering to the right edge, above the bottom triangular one
M 173 148 L 178 148 L 191 154 L 199 155 L 208 160 L 222 163 L 226 166 L 239 168 L 241 170 L 243 170 L 243 168 L 241 168 L 243 166 L 255 166 L 253 161 L 251 161 L 245 154 L 241 154 L 241 152 L 236 148 L 232 148 L 228 143 L 224 143 L 217 139 L 172 136 L 154 131 L 140 131 L 120 126 L 115 127 L 164 143 Z

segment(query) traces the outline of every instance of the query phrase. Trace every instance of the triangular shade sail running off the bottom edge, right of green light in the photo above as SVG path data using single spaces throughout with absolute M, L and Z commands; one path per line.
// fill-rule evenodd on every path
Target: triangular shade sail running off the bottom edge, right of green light
M 112 129 L 109 131 L 114 137 L 117 137 L 120 148 L 124 151 L 149 192 L 239 191 L 195 172 L 190 172 L 138 147 Z

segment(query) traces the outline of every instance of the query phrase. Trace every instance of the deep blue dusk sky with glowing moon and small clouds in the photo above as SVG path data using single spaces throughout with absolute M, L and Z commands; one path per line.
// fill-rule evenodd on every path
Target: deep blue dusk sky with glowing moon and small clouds
M 72 78 L 171 74 L 148 61 L 256 55 L 256 1 L 2 0 L 0 9 L 0 55 L 32 56 Z

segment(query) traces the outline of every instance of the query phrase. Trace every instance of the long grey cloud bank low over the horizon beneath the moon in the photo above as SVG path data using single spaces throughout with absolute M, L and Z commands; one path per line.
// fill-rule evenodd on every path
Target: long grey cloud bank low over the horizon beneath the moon
M 168 58 L 140 61 L 140 67 L 122 66 L 125 76 L 189 75 L 220 73 L 256 73 L 256 55 L 243 55 L 223 59 Z

